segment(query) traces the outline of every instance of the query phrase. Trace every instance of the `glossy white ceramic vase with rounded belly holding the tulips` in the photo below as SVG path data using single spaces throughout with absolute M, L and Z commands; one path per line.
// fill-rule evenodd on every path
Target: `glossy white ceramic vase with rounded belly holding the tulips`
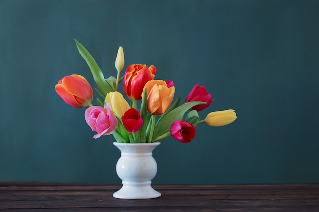
M 121 151 L 116 164 L 116 173 L 122 179 L 122 188 L 113 194 L 119 199 L 152 199 L 161 193 L 151 186 L 157 173 L 157 163 L 153 150 L 160 144 L 155 143 L 113 143 Z

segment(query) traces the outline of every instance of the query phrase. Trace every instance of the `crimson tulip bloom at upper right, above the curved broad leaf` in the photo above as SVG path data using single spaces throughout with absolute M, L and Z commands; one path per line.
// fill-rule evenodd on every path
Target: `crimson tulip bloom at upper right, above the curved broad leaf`
M 209 94 L 204 86 L 195 85 L 191 92 L 187 95 L 185 102 L 201 101 L 206 104 L 196 105 L 192 107 L 192 110 L 201 111 L 208 107 L 212 103 L 211 94 Z

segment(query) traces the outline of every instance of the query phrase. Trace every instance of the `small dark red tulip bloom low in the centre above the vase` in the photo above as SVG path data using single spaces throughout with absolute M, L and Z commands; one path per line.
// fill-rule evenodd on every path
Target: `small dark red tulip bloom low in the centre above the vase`
M 143 125 L 143 120 L 140 116 L 139 111 L 134 108 L 128 109 L 122 116 L 122 122 L 124 128 L 129 133 L 135 133 L 140 130 Z

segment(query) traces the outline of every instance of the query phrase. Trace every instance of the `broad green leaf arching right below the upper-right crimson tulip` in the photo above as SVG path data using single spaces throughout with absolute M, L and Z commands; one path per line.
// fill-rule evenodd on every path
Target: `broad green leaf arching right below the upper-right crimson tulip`
M 184 114 L 190 108 L 196 105 L 201 105 L 201 104 L 206 104 L 206 102 L 199 102 L 199 101 L 187 102 L 171 110 L 168 114 L 166 114 L 165 117 L 161 118 L 161 120 L 158 120 L 155 126 L 155 136 L 153 137 L 153 139 L 156 140 L 156 137 L 169 132 L 171 125 L 173 122 L 175 122 L 175 120 L 182 120 L 184 117 Z

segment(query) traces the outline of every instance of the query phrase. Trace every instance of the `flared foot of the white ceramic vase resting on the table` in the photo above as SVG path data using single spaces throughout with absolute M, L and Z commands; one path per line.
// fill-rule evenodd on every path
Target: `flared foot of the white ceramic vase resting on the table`
M 153 199 L 160 196 L 161 193 L 153 189 L 150 182 L 127 183 L 123 181 L 122 188 L 113 194 L 113 197 L 118 199 Z

